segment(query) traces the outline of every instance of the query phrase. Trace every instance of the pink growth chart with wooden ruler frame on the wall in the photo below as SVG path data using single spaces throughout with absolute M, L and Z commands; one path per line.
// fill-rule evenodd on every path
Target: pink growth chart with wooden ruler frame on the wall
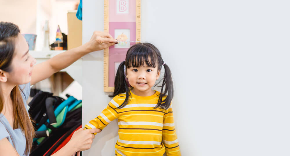
M 104 31 L 122 41 L 104 49 L 105 92 L 114 91 L 117 69 L 127 50 L 136 44 L 129 41 L 140 41 L 140 7 L 140 0 L 104 0 Z

